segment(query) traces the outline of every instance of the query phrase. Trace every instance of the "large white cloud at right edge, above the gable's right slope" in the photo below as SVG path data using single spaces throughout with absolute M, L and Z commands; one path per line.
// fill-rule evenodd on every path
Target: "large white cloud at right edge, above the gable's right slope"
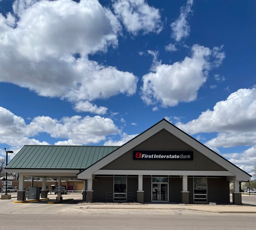
M 186 124 L 178 122 L 176 125 L 190 134 L 217 131 L 225 133 L 236 132 L 237 134 L 248 132 L 250 135 L 250 132 L 253 132 L 255 137 L 255 114 L 256 93 L 254 87 L 251 89 L 239 89 L 237 92 L 230 94 L 225 101 L 217 102 L 213 110 L 208 109 L 202 112 L 197 119 Z M 221 137 L 223 138 L 223 134 L 221 134 Z M 237 141 L 246 141 L 246 137 L 240 137 L 240 140 L 236 138 Z

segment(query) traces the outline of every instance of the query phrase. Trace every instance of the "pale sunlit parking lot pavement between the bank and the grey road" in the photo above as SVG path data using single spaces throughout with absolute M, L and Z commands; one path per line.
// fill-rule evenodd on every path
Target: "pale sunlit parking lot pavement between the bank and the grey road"
M 179 215 L 186 213 L 194 215 L 196 212 L 215 213 L 255 213 L 256 195 L 242 195 L 242 206 L 233 205 L 182 205 L 182 204 L 95 204 L 82 202 L 81 194 L 67 194 L 63 196 L 63 202 L 49 204 L 56 201 L 56 195 L 48 195 L 49 200 L 14 203 L 17 201 L 17 193 L 12 192 L 12 199 L 0 200 L 0 214 L 154 214 L 154 215 Z M 65 200 L 69 199 L 69 200 Z M 232 200 L 232 196 L 231 196 Z

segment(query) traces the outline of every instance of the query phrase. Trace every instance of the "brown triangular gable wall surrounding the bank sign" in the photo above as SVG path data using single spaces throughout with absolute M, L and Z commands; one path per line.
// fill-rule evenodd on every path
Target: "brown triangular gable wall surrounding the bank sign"
M 133 151 L 193 151 L 193 160 L 133 160 Z M 162 129 L 138 146 L 127 151 L 105 165 L 103 170 L 189 170 L 189 171 L 226 171 L 187 143 Z

